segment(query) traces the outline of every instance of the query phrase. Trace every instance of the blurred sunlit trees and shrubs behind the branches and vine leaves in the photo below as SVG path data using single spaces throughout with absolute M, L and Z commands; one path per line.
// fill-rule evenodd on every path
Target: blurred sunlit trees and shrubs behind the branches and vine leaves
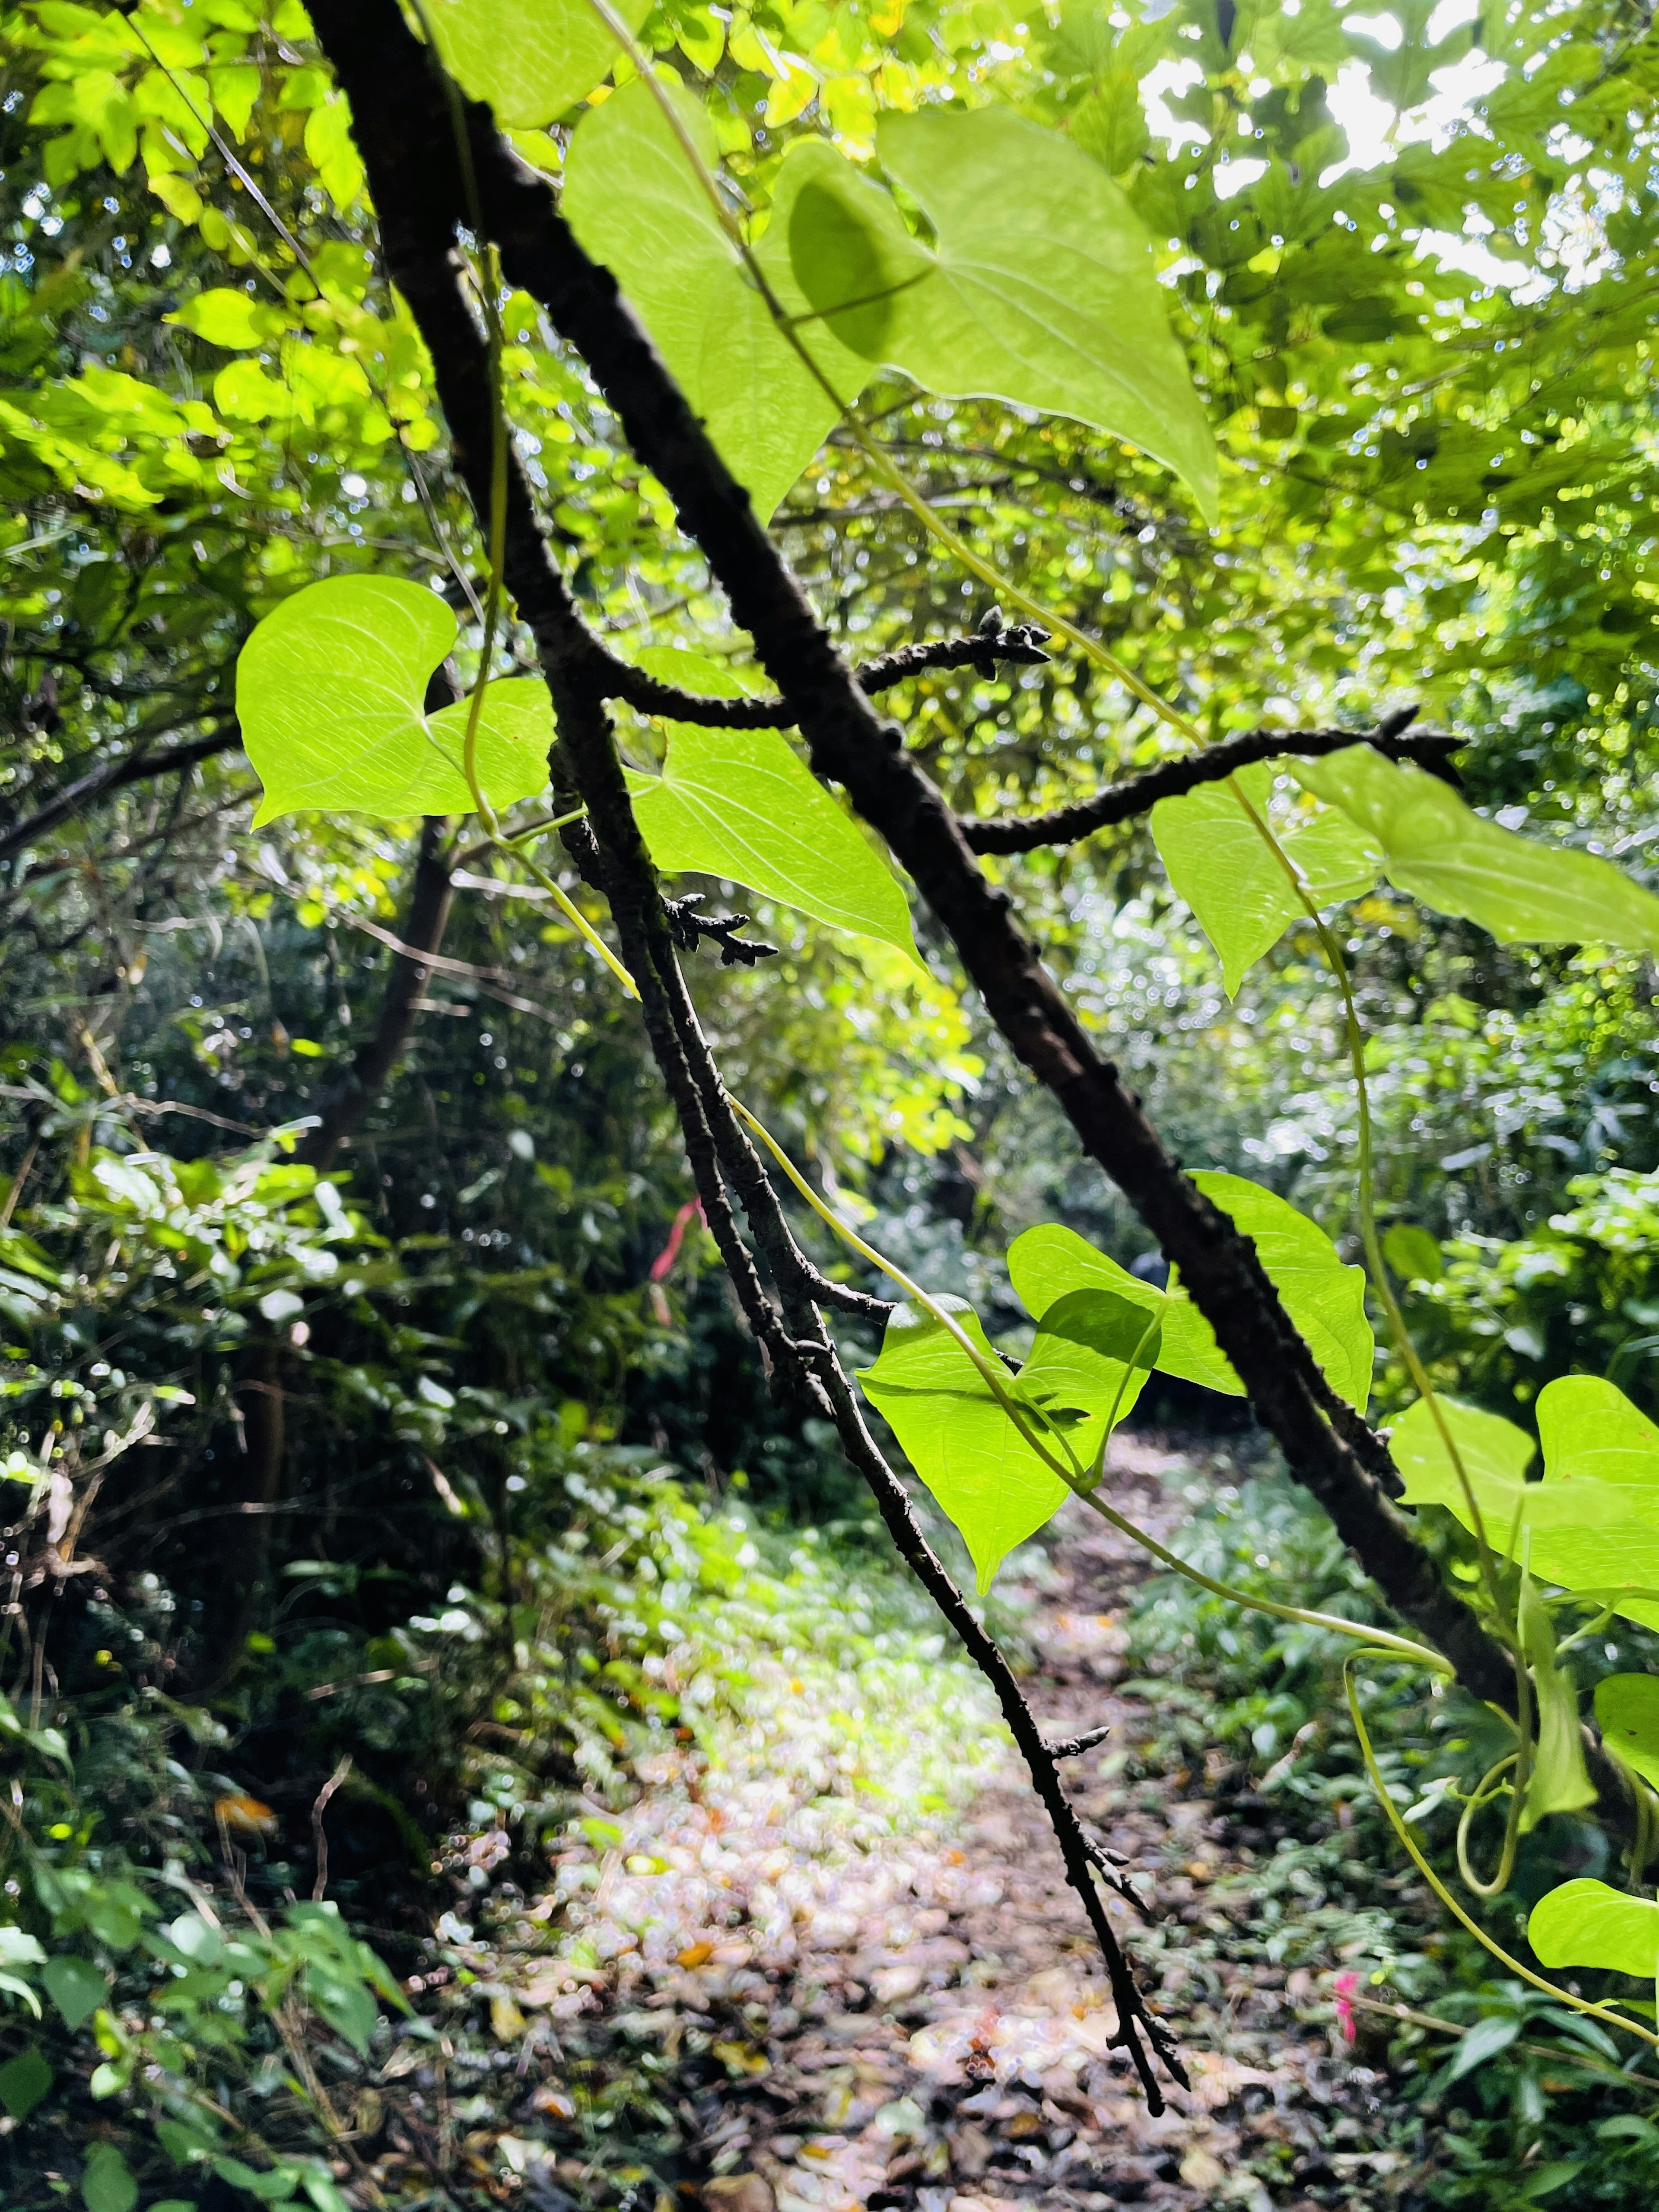
M 465 679 L 482 584 L 299 0 L 31 0 L 0 24 L 0 2161 L 9 2201 L 51 2201 L 38 2143 L 75 2112 L 108 2190 L 97 2159 L 75 2185 L 128 2212 L 128 2154 L 155 2152 L 111 2115 L 148 2112 L 186 2130 L 155 2137 L 181 2170 L 219 2159 L 226 2201 L 254 2130 L 257 2170 L 332 2212 L 330 2088 L 285 2004 L 303 1984 L 345 2051 L 394 2004 L 301 1909 L 341 1763 L 330 1898 L 407 1973 L 453 1827 L 535 1851 L 626 1792 L 655 1732 L 699 1725 L 646 1663 L 653 1546 L 690 1546 L 697 1588 L 750 1533 L 805 1524 L 860 1601 L 900 1597 L 830 1436 L 768 1391 L 641 1035 L 580 940 L 465 825 L 250 830 L 252 622 L 321 575 L 427 580 Z M 998 97 L 1068 131 L 1148 226 L 1223 447 L 1221 529 L 1075 425 L 891 385 L 872 416 L 929 498 L 1208 734 L 1416 701 L 1467 734 L 1478 805 L 1644 872 L 1641 7 L 664 0 L 641 38 L 706 97 L 759 217 L 794 135 L 867 155 L 878 100 Z M 566 135 L 520 153 L 557 175 Z M 743 661 L 582 367 L 529 301 L 504 321 L 518 445 L 591 619 Z M 776 529 L 854 657 L 984 611 L 841 440 Z M 502 668 L 526 650 L 509 637 Z M 889 703 L 964 812 L 1048 807 L 1164 750 L 1066 657 Z M 422 849 L 451 878 L 447 964 L 307 1161 L 307 1117 L 396 995 Z M 1354 1102 L 1312 940 L 1230 1004 L 1144 825 L 991 865 L 1175 1148 L 1347 1234 Z M 1144 1250 L 938 945 L 920 982 L 757 920 L 774 962 L 695 964 L 721 1064 L 922 1281 L 1015 1325 L 998 1254 L 1031 1221 Z M 1659 1411 L 1652 964 L 1495 947 L 1387 891 L 1345 936 L 1436 1376 L 1526 1418 L 1551 1376 L 1610 1374 Z M 1387 1407 L 1400 1376 L 1378 1387 Z M 1261 1511 L 1325 1557 L 1305 1506 Z M 1237 1686 L 1221 1736 L 1245 1763 L 1301 1741 L 1310 1666 Z M 230 1958 L 192 1885 L 252 1836 Z

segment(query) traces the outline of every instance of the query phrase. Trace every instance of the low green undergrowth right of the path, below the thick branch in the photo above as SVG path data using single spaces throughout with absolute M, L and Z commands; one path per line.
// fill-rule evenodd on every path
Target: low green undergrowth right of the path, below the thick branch
M 1261 1460 L 1234 1484 L 1194 1484 L 1188 1500 L 1179 1548 L 1194 1566 L 1263 1595 L 1296 1573 L 1323 1610 L 1380 1619 L 1329 1524 Z M 1130 1613 L 1130 1663 L 1146 1670 L 1159 1728 L 1121 1754 L 1124 1783 L 1183 1770 L 1254 1845 L 1234 1885 L 1250 1900 L 1243 1951 L 1318 1975 L 1334 2035 L 1376 2068 L 1378 2130 L 1398 2154 L 1405 2203 L 1648 2203 L 1659 2075 L 1593 2020 L 1493 1973 L 1400 1867 L 1347 1721 L 1347 1650 L 1336 1635 L 1241 1617 L 1175 1577 L 1150 1582 Z M 1601 1661 L 1608 1672 L 1650 1666 L 1652 1637 L 1621 1624 Z M 1460 1792 L 1491 1763 L 1495 1721 L 1451 1692 L 1425 1730 L 1418 1690 L 1387 1663 L 1367 1670 L 1363 1701 L 1389 1792 L 1449 1876 Z M 1526 1907 L 1559 1880 L 1606 1871 L 1599 1827 L 1553 1814 L 1524 1840 L 1486 1924 L 1528 1958 Z M 1203 1942 L 1181 1936 L 1183 1949 Z M 1573 1986 L 1599 1995 L 1608 1980 L 1575 1975 Z

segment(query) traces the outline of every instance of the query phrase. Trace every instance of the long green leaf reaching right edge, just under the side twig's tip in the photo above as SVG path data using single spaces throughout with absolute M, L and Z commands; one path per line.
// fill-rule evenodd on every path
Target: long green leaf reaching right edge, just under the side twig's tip
M 1462 914 L 1502 945 L 1659 951 L 1659 898 L 1610 860 L 1500 830 L 1438 776 L 1371 745 L 1290 768 L 1378 841 L 1389 883 L 1438 914 Z

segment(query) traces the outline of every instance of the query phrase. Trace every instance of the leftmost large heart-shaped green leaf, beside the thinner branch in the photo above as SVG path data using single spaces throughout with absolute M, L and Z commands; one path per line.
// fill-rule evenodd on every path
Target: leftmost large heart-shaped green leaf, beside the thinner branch
M 325 810 L 403 821 L 469 814 L 467 703 L 422 712 L 458 626 L 436 593 L 380 575 L 307 584 L 265 615 L 237 661 L 241 741 L 265 785 L 254 823 Z M 553 710 L 533 677 L 491 684 L 478 779 L 495 807 L 546 783 Z

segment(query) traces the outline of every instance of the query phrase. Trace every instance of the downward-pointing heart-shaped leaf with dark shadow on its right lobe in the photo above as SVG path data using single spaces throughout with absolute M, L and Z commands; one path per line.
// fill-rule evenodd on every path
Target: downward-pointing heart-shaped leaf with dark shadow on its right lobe
M 947 1301 L 940 1301 L 947 1303 Z M 995 1360 L 973 1312 L 949 1301 L 967 1336 Z M 1026 1425 L 1079 1471 L 1106 1442 L 1113 1405 L 1135 1405 L 1157 1334 L 1146 1312 L 1108 1292 L 1060 1298 L 1037 1327 L 1031 1358 L 1006 1389 Z M 931 1314 L 900 1305 L 887 1321 L 880 1358 L 858 1376 L 916 1473 L 962 1531 L 980 1590 L 1002 1559 L 1066 1498 L 1066 1482 L 1026 1442 L 967 1352 Z

